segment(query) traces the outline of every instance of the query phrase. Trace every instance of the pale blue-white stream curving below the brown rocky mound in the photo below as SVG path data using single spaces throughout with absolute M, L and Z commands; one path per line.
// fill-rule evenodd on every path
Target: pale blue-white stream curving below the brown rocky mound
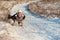
M 28 4 L 17 4 L 10 12 L 21 9 L 26 16 L 23 27 L 15 26 L 10 31 L 16 40 L 60 40 L 60 19 L 48 20 L 28 10 Z M 16 36 L 17 35 L 17 36 Z

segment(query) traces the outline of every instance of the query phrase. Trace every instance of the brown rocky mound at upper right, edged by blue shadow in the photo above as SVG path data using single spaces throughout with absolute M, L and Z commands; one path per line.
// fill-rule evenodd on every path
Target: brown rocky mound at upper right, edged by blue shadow
M 29 9 L 47 18 L 60 18 L 60 0 L 40 0 L 31 3 Z

